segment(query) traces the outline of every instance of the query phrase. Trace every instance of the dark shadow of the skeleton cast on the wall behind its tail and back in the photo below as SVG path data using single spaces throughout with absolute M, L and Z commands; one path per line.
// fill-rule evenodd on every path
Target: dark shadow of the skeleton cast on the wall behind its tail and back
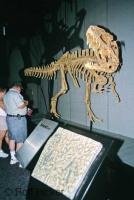
M 73 9 L 72 2 L 70 1 L 68 3 L 70 3 L 71 9 Z M 24 84 L 35 83 L 41 87 L 41 79 L 24 76 L 24 69 L 29 66 L 32 67 L 32 58 L 36 66 L 47 65 L 55 60 L 55 56 L 59 52 L 63 54 L 76 47 L 84 48 L 84 41 L 80 37 L 80 31 L 86 15 L 86 10 L 81 9 L 77 11 L 75 6 L 75 22 L 72 26 L 69 26 L 65 23 L 65 19 L 61 18 L 58 20 L 60 4 L 61 1 L 59 1 L 59 4 L 55 4 L 55 7 L 52 7 L 52 9 L 44 15 L 42 29 L 37 35 L 31 38 L 25 38 L 23 42 L 18 40 L 18 44 L 16 44 L 16 42 L 14 43 L 18 45 L 24 61 L 24 68 L 19 71 L 19 76 Z M 67 2 L 65 5 L 66 4 Z M 65 8 L 65 10 L 66 9 L 67 8 Z M 48 80 L 47 91 L 49 102 L 53 95 L 53 85 L 54 80 Z M 46 102 L 42 88 L 41 92 Z

